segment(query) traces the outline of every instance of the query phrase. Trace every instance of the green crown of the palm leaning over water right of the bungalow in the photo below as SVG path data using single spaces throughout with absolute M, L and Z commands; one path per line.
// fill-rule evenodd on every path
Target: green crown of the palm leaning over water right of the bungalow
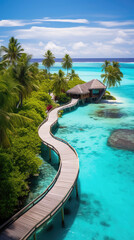
M 122 77 L 123 74 L 120 69 L 111 65 L 106 67 L 105 74 L 101 74 L 101 78 L 103 78 L 103 83 L 106 84 L 108 88 L 120 85 Z

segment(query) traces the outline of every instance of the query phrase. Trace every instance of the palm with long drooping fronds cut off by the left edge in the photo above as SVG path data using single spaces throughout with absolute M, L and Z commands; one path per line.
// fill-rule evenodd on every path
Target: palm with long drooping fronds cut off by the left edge
M 10 71 L 0 75 L 0 146 L 10 146 L 9 133 L 28 118 L 13 113 L 18 93 L 18 86 L 11 77 Z

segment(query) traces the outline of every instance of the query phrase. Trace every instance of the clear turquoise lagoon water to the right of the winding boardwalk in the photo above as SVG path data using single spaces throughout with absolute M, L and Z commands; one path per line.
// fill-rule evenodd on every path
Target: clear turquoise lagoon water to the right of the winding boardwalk
M 85 70 L 87 64 L 90 67 Z M 99 78 L 101 63 L 81 65 L 76 71 L 81 78 Z M 111 89 L 118 104 L 79 106 L 59 119 L 62 128 L 55 135 L 68 141 L 79 156 L 79 199 L 74 191 L 65 205 L 65 226 L 59 212 L 37 231 L 38 240 L 134 239 L 134 152 L 107 144 L 113 130 L 134 129 L 134 64 L 121 66 L 122 86 Z

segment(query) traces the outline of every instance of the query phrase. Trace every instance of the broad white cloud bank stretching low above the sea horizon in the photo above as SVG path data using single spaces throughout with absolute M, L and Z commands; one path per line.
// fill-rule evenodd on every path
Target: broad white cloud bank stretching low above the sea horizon
M 51 28 L 32 26 L 14 31 L 27 45 L 34 57 L 42 57 L 50 49 L 56 57 L 69 53 L 72 57 L 127 57 L 134 55 L 132 48 L 134 29 L 103 27 Z

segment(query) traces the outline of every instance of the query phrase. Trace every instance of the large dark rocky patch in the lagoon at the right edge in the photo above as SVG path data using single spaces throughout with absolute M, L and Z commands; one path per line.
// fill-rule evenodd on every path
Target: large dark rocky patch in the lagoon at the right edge
M 118 129 L 112 132 L 108 145 L 114 148 L 134 151 L 134 130 Z

